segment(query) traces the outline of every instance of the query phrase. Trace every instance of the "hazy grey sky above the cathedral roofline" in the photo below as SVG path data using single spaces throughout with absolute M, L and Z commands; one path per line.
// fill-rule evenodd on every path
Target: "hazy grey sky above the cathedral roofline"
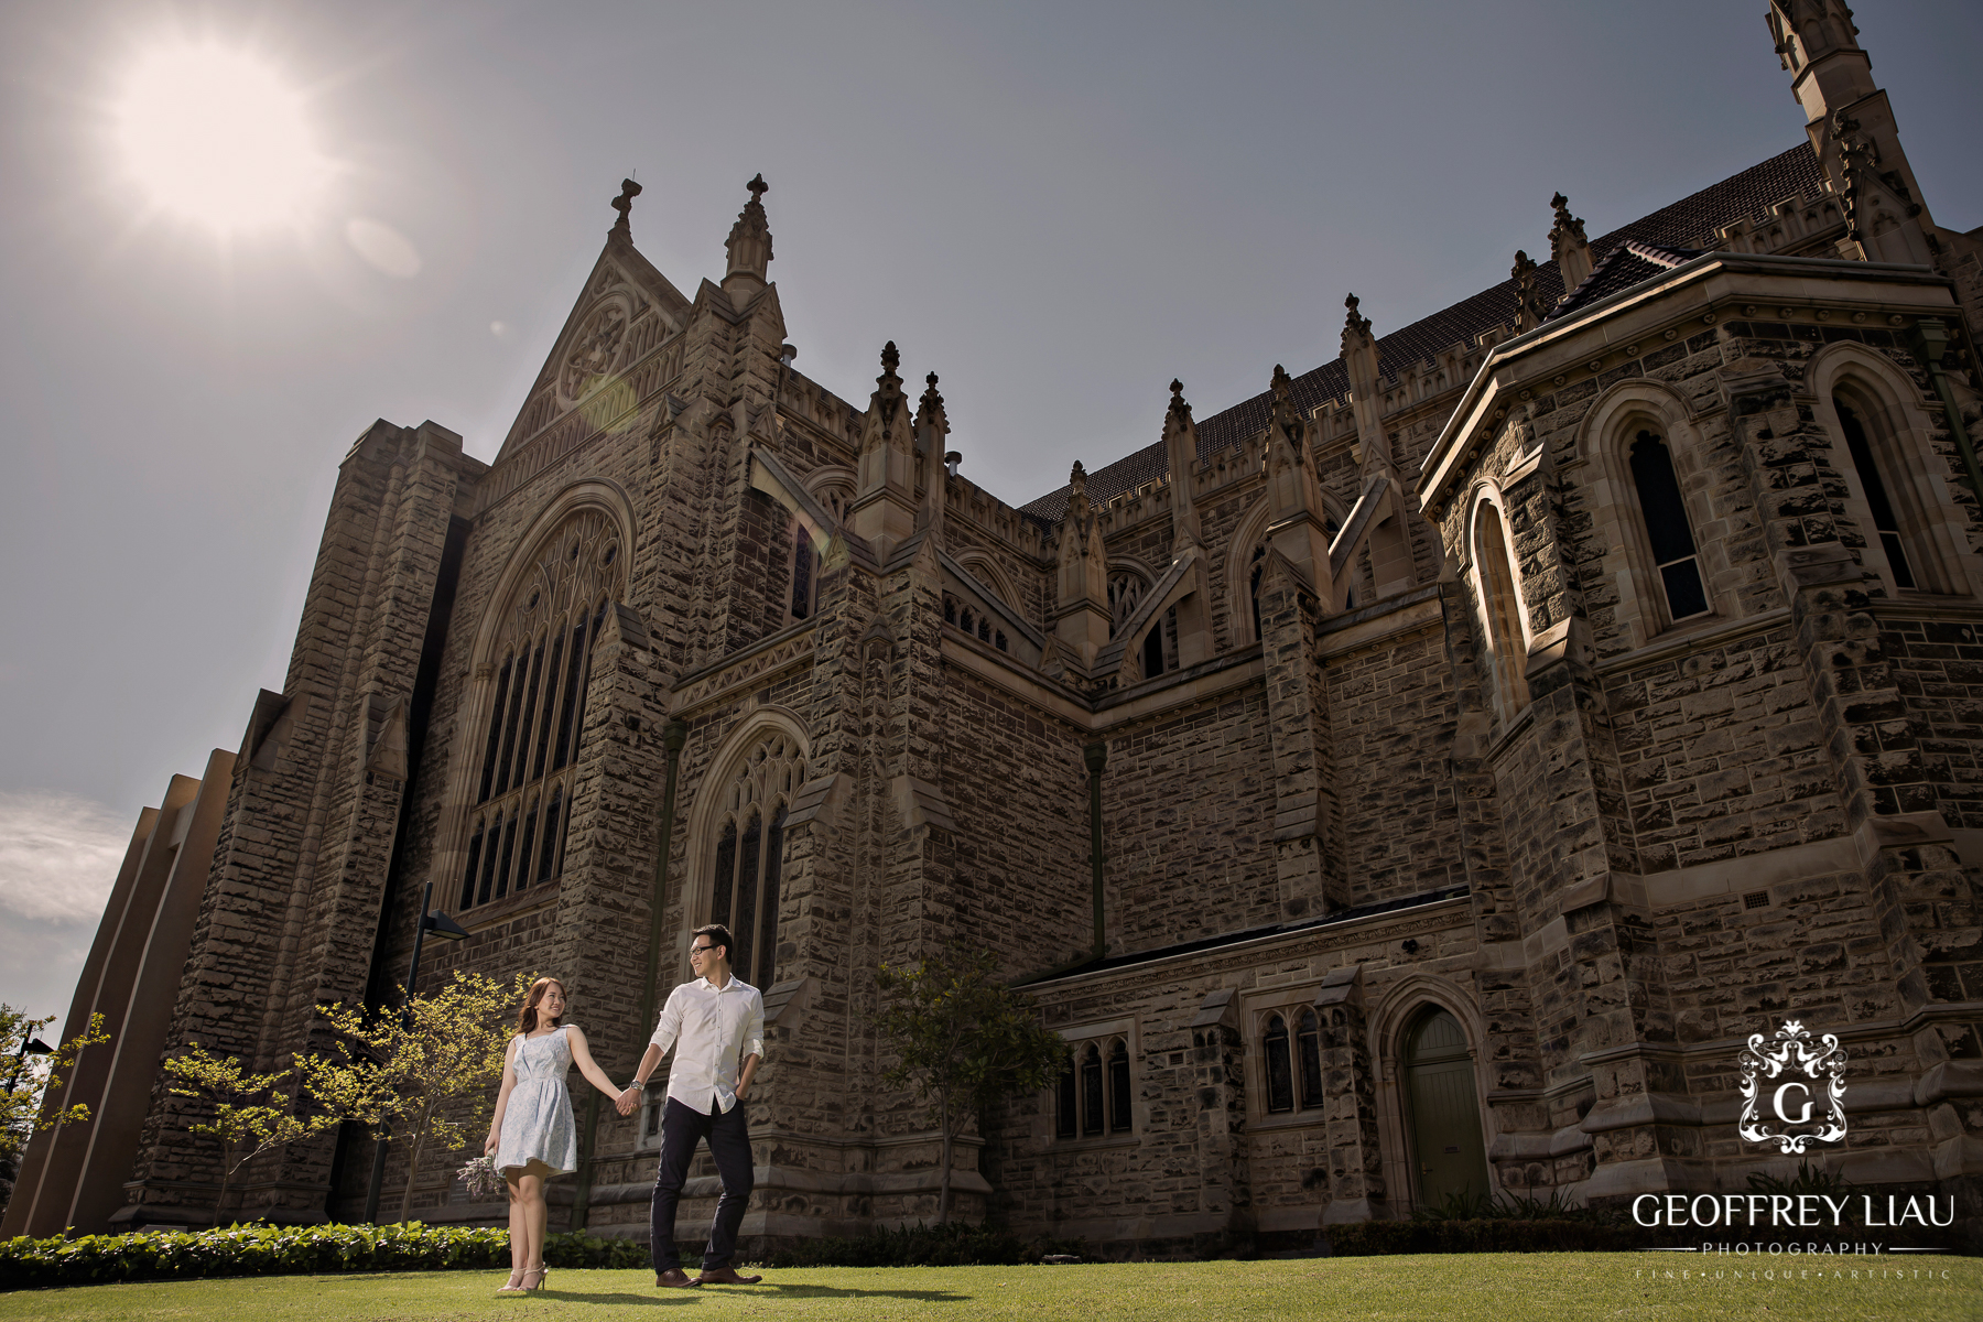
M 799 371 L 861 404 L 894 339 L 1017 505 L 1158 440 L 1174 375 L 1206 418 L 1333 359 L 1346 291 L 1382 335 L 1503 279 L 1559 188 L 1596 236 L 1801 143 L 1763 12 L 0 2 L 0 1001 L 67 1009 L 139 809 L 282 686 L 351 442 L 494 458 L 625 174 L 692 295 L 763 172 Z M 1983 6 L 1856 20 L 1977 228 Z M 307 206 L 175 206 L 123 107 L 186 46 L 295 91 Z

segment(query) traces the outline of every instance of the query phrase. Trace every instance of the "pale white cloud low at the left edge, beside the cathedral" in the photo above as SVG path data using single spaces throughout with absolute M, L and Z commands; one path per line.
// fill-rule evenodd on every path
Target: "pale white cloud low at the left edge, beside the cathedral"
M 101 803 L 0 791 L 0 910 L 32 922 L 93 922 L 129 842 L 131 823 Z

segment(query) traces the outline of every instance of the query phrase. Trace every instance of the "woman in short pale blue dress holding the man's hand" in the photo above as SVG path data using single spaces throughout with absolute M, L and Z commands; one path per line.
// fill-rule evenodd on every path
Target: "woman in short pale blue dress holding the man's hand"
M 510 1183 L 510 1284 L 500 1294 L 527 1294 L 543 1284 L 543 1181 L 579 1169 L 579 1130 L 571 1120 L 565 1072 L 579 1072 L 609 1098 L 619 1098 L 607 1072 L 593 1064 L 585 1035 L 565 1017 L 565 985 L 539 977 L 524 997 L 518 1035 L 502 1060 L 502 1092 L 482 1152 Z

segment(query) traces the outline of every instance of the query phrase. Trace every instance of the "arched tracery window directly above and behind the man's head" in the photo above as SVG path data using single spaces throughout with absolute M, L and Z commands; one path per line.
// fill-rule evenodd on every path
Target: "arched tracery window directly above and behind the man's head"
M 777 880 L 785 856 L 785 815 L 805 781 L 805 757 L 783 731 L 767 733 L 718 789 L 710 922 L 730 928 L 730 967 L 754 987 L 777 977 Z

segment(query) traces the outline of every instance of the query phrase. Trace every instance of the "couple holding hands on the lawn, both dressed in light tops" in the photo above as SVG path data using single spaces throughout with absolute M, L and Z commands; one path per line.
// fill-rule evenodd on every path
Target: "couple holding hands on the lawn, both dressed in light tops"
M 593 1062 L 585 1035 L 563 1023 L 565 987 L 555 977 L 539 977 L 524 1001 L 518 1035 L 504 1056 L 502 1092 L 484 1152 L 510 1185 L 510 1284 L 504 1294 L 543 1286 L 543 1181 L 579 1167 L 577 1124 L 565 1072 L 579 1072 L 613 1098 L 619 1114 L 631 1116 L 641 1104 L 660 1058 L 674 1048 L 668 1068 L 668 1104 L 660 1122 L 660 1169 L 654 1173 L 654 1203 L 648 1221 L 656 1286 L 758 1284 L 761 1276 L 740 1276 L 730 1259 L 744 1225 L 744 1207 L 754 1185 L 750 1126 L 740 1102 L 750 1094 L 752 1076 L 763 1060 L 763 995 L 730 971 L 730 930 L 722 924 L 696 928 L 688 961 L 696 981 L 668 995 L 654 1037 L 648 1041 L 635 1080 L 615 1088 Z M 710 1144 L 722 1199 L 702 1255 L 702 1274 L 688 1276 L 674 1247 L 674 1207 L 688 1181 L 696 1144 Z

